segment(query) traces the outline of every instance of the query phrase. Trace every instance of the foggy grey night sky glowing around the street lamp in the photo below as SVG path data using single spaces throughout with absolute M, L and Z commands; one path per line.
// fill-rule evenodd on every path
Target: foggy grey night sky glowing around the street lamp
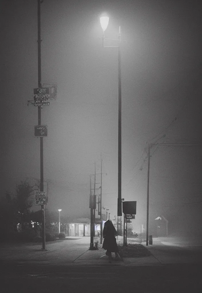
M 118 55 L 115 48 L 103 50 L 99 39 L 106 11 L 106 37 L 117 38 L 121 25 L 126 40 L 122 197 L 137 200 L 135 229 L 145 222 L 147 142 L 201 143 L 201 7 L 201 1 L 43 1 L 42 83 L 58 84 L 57 100 L 42 109 L 48 209 L 89 216 L 89 175 L 94 162 L 100 173 L 102 152 L 103 206 L 117 214 Z M 40 178 L 37 107 L 27 106 L 38 87 L 37 0 L 4 1 L 2 20 L 4 195 L 19 180 Z M 201 163 L 201 147 L 151 149 L 151 219 L 163 214 L 176 229 L 198 229 Z

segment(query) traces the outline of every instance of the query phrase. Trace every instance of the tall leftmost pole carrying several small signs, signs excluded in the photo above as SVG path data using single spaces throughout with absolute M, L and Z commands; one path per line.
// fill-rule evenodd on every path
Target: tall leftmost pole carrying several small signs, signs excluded
M 38 87 L 41 88 L 41 0 L 37 0 L 38 16 Z M 38 106 L 38 125 L 41 125 L 41 106 Z M 43 137 L 40 137 L 40 191 L 43 191 Z M 42 249 L 46 250 L 45 240 L 45 211 L 44 205 L 41 205 L 42 215 Z

